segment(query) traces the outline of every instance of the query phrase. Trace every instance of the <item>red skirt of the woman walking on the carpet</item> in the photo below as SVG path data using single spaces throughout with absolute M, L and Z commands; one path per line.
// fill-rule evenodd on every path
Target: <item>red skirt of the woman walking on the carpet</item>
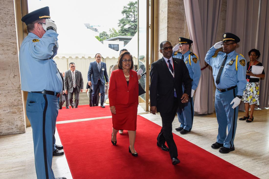
M 137 104 L 116 104 L 116 114 L 112 114 L 113 128 L 116 130 L 136 130 Z

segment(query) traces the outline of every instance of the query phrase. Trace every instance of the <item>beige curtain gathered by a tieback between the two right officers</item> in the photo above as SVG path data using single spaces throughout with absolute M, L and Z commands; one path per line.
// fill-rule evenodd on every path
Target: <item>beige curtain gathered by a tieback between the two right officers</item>
M 206 52 L 214 45 L 218 21 L 220 19 L 222 0 L 184 0 L 187 26 L 190 39 L 193 40 L 193 52 L 200 59 L 200 67 Z M 214 112 L 213 107 L 213 76 L 211 67 L 201 71 L 201 78 L 195 93 L 194 111 L 198 114 Z

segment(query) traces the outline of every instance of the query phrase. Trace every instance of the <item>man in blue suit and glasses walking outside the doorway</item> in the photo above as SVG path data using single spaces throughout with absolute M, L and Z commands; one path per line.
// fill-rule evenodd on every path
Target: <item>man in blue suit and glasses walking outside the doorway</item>
M 88 85 L 93 85 L 92 104 L 94 105 L 97 103 L 97 97 L 95 93 L 97 93 L 97 88 L 99 88 L 101 93 L 101 107 L 104 108 L 105 83 L 108 84 L 109 80 L 107 75 L 107 65 L 104 62 L 101 62 L 101 59 L 101 54 L 97 53 L 95 55 L 96 61 L 90 63 L 88 71 Z M 98 106 L 98 104 L 95 106 Z

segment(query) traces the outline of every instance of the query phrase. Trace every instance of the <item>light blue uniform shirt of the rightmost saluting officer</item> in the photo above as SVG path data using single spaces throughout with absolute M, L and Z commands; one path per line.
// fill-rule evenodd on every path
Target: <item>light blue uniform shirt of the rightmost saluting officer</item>
M 246 59 L 235 52 L 227 54 L 227 60 L 225 66 L 222 70 L 220 83 L 216 84 L 216 78 L 218 71 L 222 64 L 222 61 L 225 59 L 226 53 L 219 52 L 217 56 L 214 56 L 214 53 L 217 49 L 211 47 L 205 57 L 206 63 L 208 63 L 213 69 L 213 77 L 215 85 L 219 89 L 227 89 L 232 86 L 237 85 L 238 92 L 236 95 L 243 96 L 243 91 L 246 89 Z M 236 57 L 237 57 L 237 66 L 236 66 Z

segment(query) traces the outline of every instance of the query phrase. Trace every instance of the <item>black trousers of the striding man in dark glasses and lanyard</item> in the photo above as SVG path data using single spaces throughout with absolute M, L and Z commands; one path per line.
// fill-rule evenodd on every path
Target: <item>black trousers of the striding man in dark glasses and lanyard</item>
M 160 112 L 162 118 L 162 129 L 157 137 L 157 141 L 159 144 L 164 144 L 166 141 L 171 158 L 178 156 L 178 149 L 176 148 L 172 133 L 172 122 L 176 116 L 177 111 L 178 99 L 174 97 L 172 110 L 169 113 Z

